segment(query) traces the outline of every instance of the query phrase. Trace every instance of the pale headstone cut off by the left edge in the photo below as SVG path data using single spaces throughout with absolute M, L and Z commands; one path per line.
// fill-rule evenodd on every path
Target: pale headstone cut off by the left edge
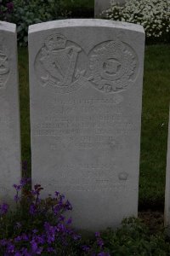
M 20 181 L 20 113 L 16 26 L 0 22 L 0 203 Z

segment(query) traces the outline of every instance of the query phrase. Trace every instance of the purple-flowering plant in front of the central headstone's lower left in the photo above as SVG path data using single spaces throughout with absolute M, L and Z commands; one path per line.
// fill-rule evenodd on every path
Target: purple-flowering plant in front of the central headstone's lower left
M 54 196 L 42 199 L 42 186 L 29 189 L 30 179 L 14 184 L 16 209 L 9 212 L 8 204 L 0 205 L 0 255 L 88 255 L 109 256 L 103 252 L 103 240 L 96 233 L 95 247 L 81 244 L 81 236 L 71 228 L 71 203 L 55 191 Z M 20 193 L 22 189 L 23 193 Z M 87 250 L 89 248 L 89 250 Z M 102 254 L 101 254 L 102 253 Z M 92 254 L 90 254 L 92 255 Z

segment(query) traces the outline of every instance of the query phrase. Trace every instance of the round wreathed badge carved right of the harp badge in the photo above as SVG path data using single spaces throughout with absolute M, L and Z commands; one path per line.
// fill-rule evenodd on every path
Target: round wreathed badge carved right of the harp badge
M 95 46 L 89 60 L 89 80 L 96 89 L 106 93 L 127 89 L 138 72 L 137 55 L 118 39 Z

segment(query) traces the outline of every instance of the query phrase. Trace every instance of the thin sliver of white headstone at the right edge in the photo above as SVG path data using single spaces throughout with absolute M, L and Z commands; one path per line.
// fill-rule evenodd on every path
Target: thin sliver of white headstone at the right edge
M 169 112 L 170 117 L 170 112 Z M 168 126 L 168 143 L 167 143 L 167 174 L 166 174 L 166 189 L 165 189 L 165 226 L 170 226 L 170 119 Z M 168 234 L 170 229 L 168 227 Z

